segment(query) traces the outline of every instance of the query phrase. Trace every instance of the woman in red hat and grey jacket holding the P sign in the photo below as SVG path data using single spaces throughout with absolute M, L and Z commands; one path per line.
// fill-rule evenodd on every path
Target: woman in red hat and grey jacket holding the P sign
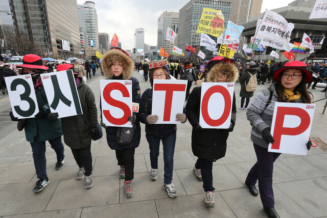
M 274 208 L 272 174 L 273 163 L 281 153 L 268 152 L 269 143 L 275 142 L 270 134 L 274 102 L 311 103 L 306 87 L 311 77 L 304 62 L 287 62 L 273 76 L 277 83 L 256 94 L 247 108 L 246 116 L 252 124 L 251 141 L 258 161 L 248 173 L 245 185 L 253 196 L 258 196 L 255 183 L 259 180 L 260 197 L 268 217 L 279 217 Z M 307 143 L 308 150 L 310 147 L 311 141 Z

